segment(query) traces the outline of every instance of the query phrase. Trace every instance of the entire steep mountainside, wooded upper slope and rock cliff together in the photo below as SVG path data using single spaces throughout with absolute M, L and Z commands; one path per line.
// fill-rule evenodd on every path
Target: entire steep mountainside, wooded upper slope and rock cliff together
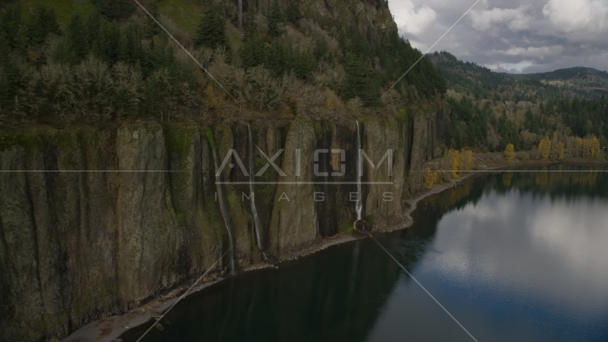
M 394 153 L 364 163 L 365 179 L 387 183 L 363 189 L 372 229 L 401 223 L 422 162 L 443 150 L 446 85 L 428 59 L 381 97 L 421 56 L 385 1 L 243 1 L 243 27 L 233 1 L 141 2 L 223 88 L 130 1 L 0 6 L 2 341 L 137 308 L 233 244 L 209 278 L 231 256 L 239 268 L 350 232 L 355 118 L 374 163 Z M 256 172 L 268 165 L 247 122 L 266 155 L 283 150 L 274 162 L 289 178 L 266 166 L 260 180 L 292 181 L 256 185 L 261 241 L 249 177 L 228 167 L 249 150 Z

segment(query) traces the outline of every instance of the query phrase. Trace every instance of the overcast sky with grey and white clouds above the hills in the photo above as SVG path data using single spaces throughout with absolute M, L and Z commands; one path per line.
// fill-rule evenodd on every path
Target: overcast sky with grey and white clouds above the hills
M 476 0 L 389 0 L 399 34 L 422 52 Z M 481 0 L 431 50 L 494 71 L 608 70 L 608 0 Z

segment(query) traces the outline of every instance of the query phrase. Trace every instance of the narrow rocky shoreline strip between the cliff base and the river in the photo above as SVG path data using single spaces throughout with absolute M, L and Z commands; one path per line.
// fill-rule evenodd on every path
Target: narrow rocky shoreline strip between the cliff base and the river
M 521 156 L 523 152 L 518 153 Z M 474 169 L 473 170 L 460 170 L 461 174 L 457 175 L 457 177 L 451 177 L 451 170 L 446 170 L 444 173 L 448 174 L 448 178 L 441 183 L 436 183 L 432 185 L 430 188 L 426 187 L 424 190 L 421 190 L 419 193 L 413 195 L 409 199 L 405 199 L 405 209 L 402 214 L 402 217 L 398 222 L 392 222 L 390 224 L 384 224 L 382 227 L 377 227 L 374 229 L 372 234 L 385 234 L 388 232 L 394 232 L 397 230 L 407 229 L 414 224 L 414 219 L 412 219 L 412 213 L 416 209 L 419 202 L 426 197 L 431 195 L 436 195 L 451 188 L 454 188 L 460 185 L 465 180 L 469 178 L 478 177 L 483 175 L 484 171 L 487 172 L 501 172 L 508 171 L 513 167 L 525 166 L 525 167 L 546 167 L 549 165 L 558 165 L 558 164 L 569 164 L 569 165 L 608 165 L 607 159 L 583 159 L 583 158 L 569 158 L 565 160 L 520 160 L 515 157 L 511 162 L 505 160 L 503 153 L 486 153 L 482 154 L 478 157 L 473 155 L 474 161 Z M 434 161 L 438 162 L 438 161 Z M 429 162 L 426 162 L 428 165 Z M 425 165 L 425 167 L 426 167 Z M 354 224 L 354 220 L 353 220 Z M 266 269 L 266 268 L 276 268 L 279 269 L 281 262 L 289 261 L 293 259 L 299 259 L 301 257 L 307 257 L 310 254 L 315 254 L 316 252 L 320 252 L 323 249 L 327 249 L 329 247 L 335 246 L 337 244 L 344 244 L 347 242 L 353 242 L 358 239 L 366 239 L 367 234 L 362 234 L 360 232 L 352 232 L 350 234 L 338 233 L 333 237 L 326 237 L 320 240 L 318 244 L 308 247 L 307 249 L 301 250 L 298 254 L 293 254 L 291 257 L 287 259 L 280 259 L 269 262 L 262 262 L 261 264 L 252 264 L 244 268 L 242 272 L 246 271 L 255 271 L 257 269 Z M 228 276 L 219 276 L 213 279 L 206 279 L 206 281 L 198 284 L 197 286 L 189 292 L 188 296 L 184 298 L 188 298 L 192 296 L 192 294 L 196 294 L 203 289 L 206 289 L 209 286 L 214 284 L 218 284 L 225 279 L 228 279 L 232 275 Z M 235 275 L 235 276 L 238 276 Z M 63 341 L 65 342 L 76 342 L 83 341 L 83 339 L 95 338 L 96 341 L 100 342 L 112 342 L 112 341 L 122 341 L 118 340 L 120 336 L 126 331 L 136 328 L 137 326 L 142 326 L 150 323 L 150 320 L 157 318 L 162 315 L 162 313 L 169 309 L 172 304 L 184 294 L 187 288 L 189 288 L 191 284 L 184 284 L 183 286 L 179 286 L 177 289 L 173 289 L 167 294 L 162 296 L 158 296 L 150 301 L 147 301 L 144 305 L 139 308 L 132 309 L 126 314 L 109 316 L 105 318 L 100 318 L 97 321 L 90 322 L 78 328 L 78 330 L 71 333 L 67 338 Z

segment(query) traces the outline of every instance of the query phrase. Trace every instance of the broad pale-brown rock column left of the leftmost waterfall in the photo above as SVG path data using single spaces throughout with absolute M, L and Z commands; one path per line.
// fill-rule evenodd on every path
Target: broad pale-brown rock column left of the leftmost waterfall
M 174 281 L 177 218 L 171 209 L 167 172 L 162 172 L 168 167 L 162 128 L 120 128 L 117 155 L 122 171 L 118 266 L 120 295 L 126 304 L 141 301 Z

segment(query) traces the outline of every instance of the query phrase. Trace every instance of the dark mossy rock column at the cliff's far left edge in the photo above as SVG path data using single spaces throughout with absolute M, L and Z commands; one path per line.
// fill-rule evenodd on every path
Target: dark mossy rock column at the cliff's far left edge
M 0 152 L 1 170 L 26 170 L 21 147 Z M 36 227 L 24 172 L 0 173 L 0 339 L 43 336 Z

